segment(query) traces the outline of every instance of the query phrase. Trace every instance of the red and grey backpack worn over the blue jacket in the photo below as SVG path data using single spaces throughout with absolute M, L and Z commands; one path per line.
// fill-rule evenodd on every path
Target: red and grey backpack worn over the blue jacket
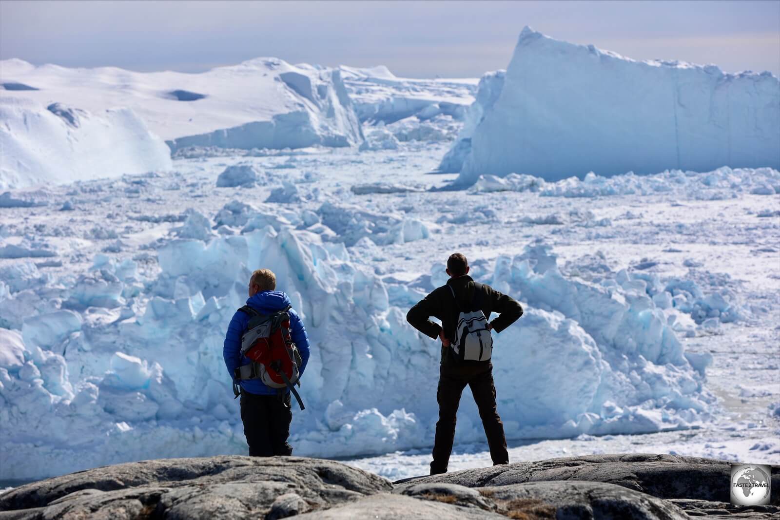
M 239 396 L 236 381 L 259 379 L 267 387 L 289 388 L 303 410 L 303 401 L 295 389 L 298 380 L 301 357 L 298 347 L 290 338 L 290 317 L 287 311 L 263 314 L 250 306 L 239 309 L 249 315 L 246 332 L 241 336 L 241 354 L 252 363 L 239 366 L 233 373 L 233 393 Z

